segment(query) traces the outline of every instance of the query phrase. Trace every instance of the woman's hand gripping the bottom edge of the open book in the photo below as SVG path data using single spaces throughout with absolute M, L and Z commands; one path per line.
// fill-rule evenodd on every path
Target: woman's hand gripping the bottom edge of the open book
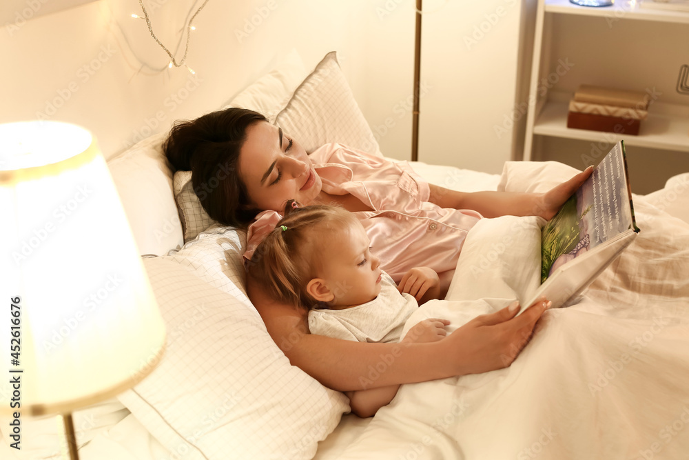
M 500 311 L 482 314 L 457 328 L 442 342 L 457 359 L 457 374 L 479 374 L 509 366 L 531 339 L 536 321 L 546 308 L 546 301 L 538 301 L 515 317 L 520 308 L 514 301 Z

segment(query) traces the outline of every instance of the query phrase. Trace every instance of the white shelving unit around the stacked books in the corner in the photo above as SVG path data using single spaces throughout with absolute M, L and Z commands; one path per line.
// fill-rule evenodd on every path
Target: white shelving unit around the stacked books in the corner
M 652 10 L 629 0 L 606 8 L 540 0 L 524 159 L 541 159 L 542 145 L 552 146 L 555 139 L 558 145 L 565 139 L 624 139 L 630 150 L 689 152 L 689 95 L 675 91 L 679 66 L 689 63 L 688 43 L 688 12 Z M 568 101 L 582 83 L 656 94 L 639 135 L 567 128 Z

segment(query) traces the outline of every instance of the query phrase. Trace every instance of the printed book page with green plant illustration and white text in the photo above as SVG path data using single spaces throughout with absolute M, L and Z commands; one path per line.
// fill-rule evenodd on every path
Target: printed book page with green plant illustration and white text
M 624 145 L 620 142 L 542 229 L 541 283 L 560 266 L 632 225 Z

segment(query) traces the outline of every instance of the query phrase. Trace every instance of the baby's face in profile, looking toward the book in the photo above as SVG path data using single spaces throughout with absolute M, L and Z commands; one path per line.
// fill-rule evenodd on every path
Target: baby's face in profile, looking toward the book
M 361 223 L 334 235 L 322 254 L 324 279 L 335 296 L 330 308 L 347 308 L 376 299 L 380 293 L 380 259 L 371 254 L 371 241 Z

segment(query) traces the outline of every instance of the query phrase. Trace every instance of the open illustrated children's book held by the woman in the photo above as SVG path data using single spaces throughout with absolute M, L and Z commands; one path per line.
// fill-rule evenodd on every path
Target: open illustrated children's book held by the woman
M 551 308 L 568 306 L 638 233 L 619 141 L 542 228 L 541 286 L 520 303 L 528 307 L 545 297 Z

